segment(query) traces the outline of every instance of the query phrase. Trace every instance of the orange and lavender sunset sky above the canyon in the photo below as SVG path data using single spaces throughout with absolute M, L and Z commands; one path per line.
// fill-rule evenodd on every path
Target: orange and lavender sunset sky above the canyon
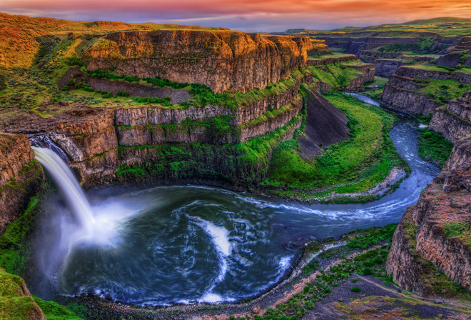
M 80 21 L 285 31 L 371 26 L 437 16 L 471 18 L 471 0 L 0 0 L 0 12 Z

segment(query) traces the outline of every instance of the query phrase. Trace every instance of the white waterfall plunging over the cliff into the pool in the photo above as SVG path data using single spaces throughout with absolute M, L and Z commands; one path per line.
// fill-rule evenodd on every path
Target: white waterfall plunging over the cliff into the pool
M 32 146 L 32 148 L 36 159 L 49 172 L 59 190 L 64 194 L 67 204 L 69 204 L 69 208 L 78 220 L 78 223 L 84 231 L 88 231 L 88 234 L 91 234 L 95 218 L 90 204 L 88 204 L 88 200 L 69 166 L 67 166 L 61 156 L 50 149 L 38 148 L 36 146 Z M 58 147 L 56 146 L 56 148 Z

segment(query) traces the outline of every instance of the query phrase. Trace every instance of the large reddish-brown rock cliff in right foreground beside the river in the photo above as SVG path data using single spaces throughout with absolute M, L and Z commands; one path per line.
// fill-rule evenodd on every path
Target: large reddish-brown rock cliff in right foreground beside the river
M 471 289 L 470 197 L 468 138 L 455 145 L 442 172 L 397 227 L 386 265 L 397 284 L 417 294 L 433 294 L 430 281 L 436 281 L 432 270 L 437 269 Z

